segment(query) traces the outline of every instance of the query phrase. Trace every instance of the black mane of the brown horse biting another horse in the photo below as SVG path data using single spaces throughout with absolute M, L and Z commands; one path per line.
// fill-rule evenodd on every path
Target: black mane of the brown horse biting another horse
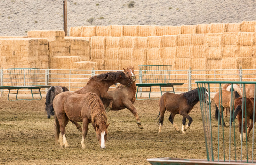
M 117 72 L 107 72 L 107 73 L 102 73 L 100 75 L 95 75 L 95 76 L 91 77 L 90 79 L 97 78 L 99 81 L 102 81 L 102 80 L 116 81 L 116 80 L 118 80 L 120 74 L 122 75 L 122 77 L 125 76 L 124 72 L 117 71 Z

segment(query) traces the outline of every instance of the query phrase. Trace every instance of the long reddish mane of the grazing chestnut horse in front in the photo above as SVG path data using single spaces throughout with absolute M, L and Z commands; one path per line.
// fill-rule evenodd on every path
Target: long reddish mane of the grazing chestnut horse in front
M 91 118 L 92 118 L 92 124 L 105 124 L 107 125 L 108 119 L 107 119 L 107 113 L 104 108 L 104 105 L 102 101 L 100 100 L 100 97 L 98 97 L 95 93 L 87 93 L 86 102 L 87 107 L 91 112 Z M 100 127 L 102 128 L 102 127 Z M 99 129 L 100 129 L 99 128 Z M 100 132 L 104 130 L 99 130 Z

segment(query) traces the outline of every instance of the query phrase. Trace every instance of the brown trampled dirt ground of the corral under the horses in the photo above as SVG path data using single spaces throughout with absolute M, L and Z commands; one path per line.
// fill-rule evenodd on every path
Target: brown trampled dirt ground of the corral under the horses
M 40 101 L 7 101 L 6 97 L 0 97 L 0 164 L 149 164 L 146 159 L 156 157 L 206 159 L 199 103 L 189 113 L 193 123 L 186 134 L 175 132 L 168 120 L 169 112 L 165 113 L 162 133 L 158 133 L 155 120 L 159 112 L 158 100 L 137 100 L 134 105 L 144 129 L 137 127 L 129 110 L 110 111 L 106 148 L 100 149 L 90 124 L 85 138 L 86 148 L 82 149 L 82 134 L 71 122 L 66 127 L 70 148 L 60 148 L 55 144 L 54 120 L 47 118 L 44 102 L 45 97 Z M 212 104 L 213 110 L 214 106 Z M 228 119 L 225 121 L 228 125 Z M 176 115 L 174 122 L 181 129 L 182 116 Z M 213 121 L 213 141 L 216 141 L 217 128 L 217 122 Z M 224 128 L 224 132 L 228 131 L 229 127 Z M 237 130 L 236 138 L 239 141 Z M 228 155 L 228 139 L 225 141 Z M 239 145 L 237 142 L 239 152 L 236 154 L 240 156 Z M 251 145 L 250 139 L 248 146 Z M 217 151 L 216 147 L 214 151 Z M 231 157 L 234 158 L 233 154 Z

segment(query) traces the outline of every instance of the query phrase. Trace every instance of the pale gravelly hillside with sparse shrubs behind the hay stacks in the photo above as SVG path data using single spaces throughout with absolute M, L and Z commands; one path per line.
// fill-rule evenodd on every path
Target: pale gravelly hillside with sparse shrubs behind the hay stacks
M 134 7 L 128 8 L 129 0 L 70 0 L 68 29 L 91 25 L 89 18 L 94 18 L 92 25 L 195 25 L 256 20 L 255 0 L 134 1 Z M 1 0 L 0 6 L 0 35 L 63 29 L 62 0 Z

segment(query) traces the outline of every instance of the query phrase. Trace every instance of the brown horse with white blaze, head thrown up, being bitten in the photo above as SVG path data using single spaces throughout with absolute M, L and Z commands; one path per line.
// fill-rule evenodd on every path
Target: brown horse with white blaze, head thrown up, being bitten
M 133 106 L 133 104 L 136 100 L 136 98 L 135 98 L 136 76 L 134 74 L 133 67 L 127 67 L 126 69 L 124 69 L 124 72 L 128 75 L 128 77 L 130 79 L 132 79 L 133 83 L 131 86 L 120 85 L 120 86 L 116 87 L 115 90 L 108 91 L 108 94 L 111 97 L 113 97 L 113 104 L 112 104 L 112 108 L 110 110 L 111 111 L 119 111 L 124 108 L 127 108 L 135 116 L 138 127 L 140 129 L 143 129 L 141 122 L 140 122 L 140 117 L 138 115 L 138 112 L 137 112 L 136 108 Z M 108 105 L 109 105 L 108 99 L 103 99 L 102 102 L 103 102 L 105 108 L 108 107 Z M 108 112 L 108 111 L 106 110 L 106 112 Z

